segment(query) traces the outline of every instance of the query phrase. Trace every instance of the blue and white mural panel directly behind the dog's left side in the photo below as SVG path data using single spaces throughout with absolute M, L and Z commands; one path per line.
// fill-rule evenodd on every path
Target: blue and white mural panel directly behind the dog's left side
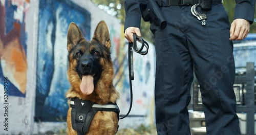
M 67 32 L 75 22 L 84 37 L 90 39 L 90 13 L 69 1 L 39 1 L 36 121 L 66 121 Z M 59 100 L 56 100 L 59 99 Z

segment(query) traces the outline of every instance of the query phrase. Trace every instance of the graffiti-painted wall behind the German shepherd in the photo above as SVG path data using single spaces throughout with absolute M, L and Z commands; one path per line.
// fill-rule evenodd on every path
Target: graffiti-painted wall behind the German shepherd
M 0 134 L 65 131 L 68 26 L 74 21 L 91 40 L 100 20 L 110 32 L 123 116 L 131 101 L 128 47 L 117 18 L 89 0 L 0 0 Z M 154 63 L 151 43 L 146 56 L 134 53 L 133 107 L 129 117 L 119 121 L 120 128 L 154 123 Z

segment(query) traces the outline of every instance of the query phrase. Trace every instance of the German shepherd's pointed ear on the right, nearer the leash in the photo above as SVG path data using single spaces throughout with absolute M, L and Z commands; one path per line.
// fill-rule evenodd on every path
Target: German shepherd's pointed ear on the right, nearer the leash
M 93 39 L 99 41 L 103 46 L 110 49 L 111 42 L 110 42 L 110 33 L 108 26 L 106 26 L 106 23 L 104 20 L 101 20 L 99 24 L 97 25 Z

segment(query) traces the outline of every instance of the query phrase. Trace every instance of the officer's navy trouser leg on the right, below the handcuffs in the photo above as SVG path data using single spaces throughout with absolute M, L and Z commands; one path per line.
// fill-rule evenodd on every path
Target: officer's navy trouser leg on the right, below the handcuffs
M 207 134 L 240 134 L 233 91 L 233 45 L 229 21 L 222 4 L 206 14 L 206 25 L 191 19 L 188 47 L 194 61 L 205 113 Z

